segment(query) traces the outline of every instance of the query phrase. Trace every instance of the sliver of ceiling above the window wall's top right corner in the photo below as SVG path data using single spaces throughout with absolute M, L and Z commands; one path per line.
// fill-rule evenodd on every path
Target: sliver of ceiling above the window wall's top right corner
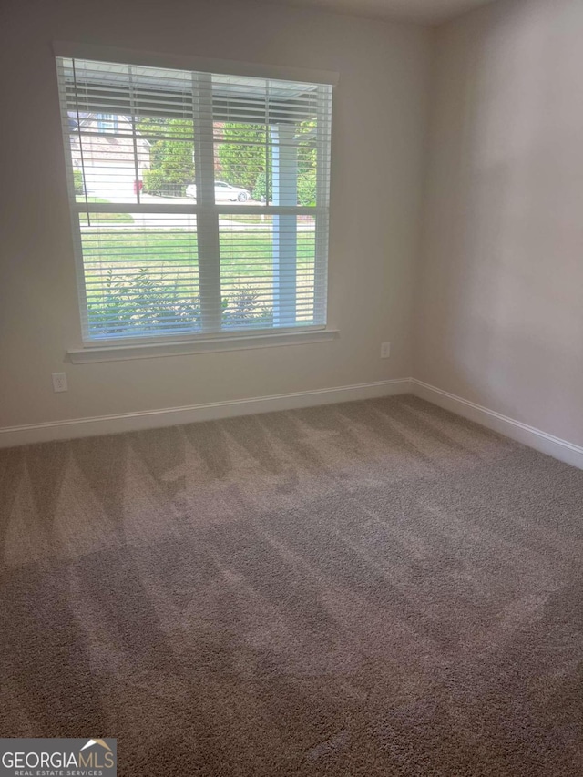
M 343 14 L 377 19 L 404 19 L 439 24 L 492 0 L 270 0 L 287 5 L 312 5 Z

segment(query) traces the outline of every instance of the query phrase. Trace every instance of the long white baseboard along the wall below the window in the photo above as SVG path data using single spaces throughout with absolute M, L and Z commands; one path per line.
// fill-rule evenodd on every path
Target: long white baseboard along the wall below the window
M 409 394 L 411 380 L 402 378 L 377 383 L 360 383 L 352 386 L 336 386 L 293 394 L 255 396 L 230 402 L 191 404 L 186 407 L 167 407 L 161 410 L 146 410 L 141 413 L 100 415 L 93 418 L 74 418 L 68 421 L 53 421 L 47 424 L 8 426 L 0 429 L 0 448 L 30 443 L 45 443 L 49 440 L 69 440 L 94 435 L 116 435 L 119 432 L 134 432 L 139 429 L 153 429 L 159 426 L 191 424 L 195 421 L 212 421 L 235 415 L 271 413 L 275 410 L 293 410 L 312 407 L 317 404 L 352 402 L 357 399 L 372 399 L 377 396 Z

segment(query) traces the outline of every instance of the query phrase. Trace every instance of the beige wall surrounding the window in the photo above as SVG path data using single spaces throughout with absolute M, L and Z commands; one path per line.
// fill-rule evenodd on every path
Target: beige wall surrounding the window
M 307 9 L 199 0 L 4 0 L 0 427 L 406 377 L 430 34 Z M 330 323 L 338 342 L 64 364 L 80 344 L 53 40 L 340 73 Z M 4 71 L 6 74 L 6 71 Z M 380 344 L 393 344 L 381 361 Z M 51 373 L 66 370 L 67 394 Z

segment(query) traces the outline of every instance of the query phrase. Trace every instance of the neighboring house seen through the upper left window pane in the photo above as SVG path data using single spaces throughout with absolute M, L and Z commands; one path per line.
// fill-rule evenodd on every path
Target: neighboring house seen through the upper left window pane
M 149 168 L 150 144 L 132 134 L 131 118 L 115 114 L 69 113 L 74 169 L 85 170 L 87 194 L 127 199 Z

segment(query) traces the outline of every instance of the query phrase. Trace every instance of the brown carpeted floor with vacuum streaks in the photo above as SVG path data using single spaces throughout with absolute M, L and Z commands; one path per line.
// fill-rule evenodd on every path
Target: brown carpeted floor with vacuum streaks
M 412 396 L 0 451 L 0 735 L 583 773 L 583 472 Z

